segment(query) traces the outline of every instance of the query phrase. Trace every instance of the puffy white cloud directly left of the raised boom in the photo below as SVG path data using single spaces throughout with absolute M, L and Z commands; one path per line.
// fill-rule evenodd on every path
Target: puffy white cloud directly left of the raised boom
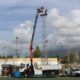
M 32 22 L 25 21 L 23 24 L 20 24 L 19 27 L 14 29 L 14 36 L 19 38 L 20 42 L 29 42 L 32 34 Z

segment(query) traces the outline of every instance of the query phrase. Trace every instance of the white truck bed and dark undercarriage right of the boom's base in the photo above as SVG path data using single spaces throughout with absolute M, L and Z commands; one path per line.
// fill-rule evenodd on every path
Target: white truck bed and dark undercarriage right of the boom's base
M 46 64 L 34 66 L 35 75 L 43 75 L 43 77 L 55 77 L 59 75 L 61 64 Z

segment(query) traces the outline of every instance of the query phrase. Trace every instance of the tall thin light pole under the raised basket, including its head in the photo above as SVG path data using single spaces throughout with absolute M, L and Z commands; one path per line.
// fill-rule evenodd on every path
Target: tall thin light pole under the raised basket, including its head
M 45 64 L 48 64 L 48 54 L 46 51 L 46 44 L 47 44 L 47 40 L 46 40 L 46 16 L 47 16 L 47 9 L 45 9 L 44 7 L 41 7 L 39 9 L 39 13 L 40 16 L 42 17 L 42 27 L 43 27 L 43 54 L 45 54 L 45 59 L 43 62 L 46 62 Z

